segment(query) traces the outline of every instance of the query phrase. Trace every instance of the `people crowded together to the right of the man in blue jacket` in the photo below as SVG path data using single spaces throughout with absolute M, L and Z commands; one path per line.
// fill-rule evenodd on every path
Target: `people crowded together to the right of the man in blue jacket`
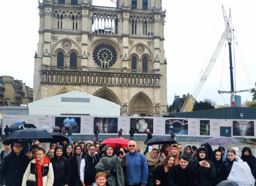
M 209 143 L 199 148 L 165 143 L 160 150 L 153 148 L 146 158 L 148 186 L 238 186 L 236 182 L 227 180 L 234 161 L 247 162 L 250 169 L 244 176 L 256 178 L 256 158 L 249 147 L 243 148 L 240 158 L 237 147 L 226 151 L 224 146 L 219 146 L 213 151 Z

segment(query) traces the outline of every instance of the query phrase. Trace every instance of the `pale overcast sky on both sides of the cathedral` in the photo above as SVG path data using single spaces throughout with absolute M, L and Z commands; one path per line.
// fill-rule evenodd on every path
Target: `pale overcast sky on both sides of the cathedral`
M 0 75 L 13 76 L 33 87 L 34 53 L 38 43 L 38 0 L 2 2 Z M 109 0 L 94 0 L 97 6 L 114 6 Z M 162 0 L 166 10 L 165 57 L 167 58 L 168 104 L 174 96 L 192 93 L 193 86 L 209 62 L 217 42 L 225 29 L 222 5 L 226 13 L 231 8 L 232 26 L 238 45 L 235 47 L 236 90 L 255 87 L 256 82 L 256 11 L 255 0 Z M 10 7 L 10 8 L 7 8 Z M 240 49 L 238 49 L 238 47 Z M 241 51 L 241 52 L 240 52 Z M 217 90 L 230 90 L 228 46 L 222 47 L 214 67 L 197 100 L 209 98 L 217 105 L 230 103 L 229 94 Z M 240 55 L 239 53 L 242 53 Z M 246 78 L 242 60 L 247 68 Z M 224 66 L 223 66 L 224 64 Z M 222 86 L 220 87 L 223 66 Z M 251 100 L 250 93 L 240 93 L 242 102 Z

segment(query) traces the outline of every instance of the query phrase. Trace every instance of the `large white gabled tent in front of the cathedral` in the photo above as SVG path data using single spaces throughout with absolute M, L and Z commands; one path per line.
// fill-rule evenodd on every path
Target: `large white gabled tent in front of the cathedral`
M 73 91 L 28 104 L 29 115 L 120 116 L 120 105 L 99 97 Z

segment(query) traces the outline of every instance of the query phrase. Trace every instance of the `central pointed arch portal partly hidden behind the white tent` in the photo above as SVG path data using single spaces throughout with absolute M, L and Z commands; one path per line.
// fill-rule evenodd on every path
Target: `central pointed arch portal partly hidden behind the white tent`
M 104 100 L 108 100 L 108 101 L 111 101 L 111 102 L 116 103 L 118 105 L 121 105 L 120 100 L 115 95 L 115 93 L 113 91 L 109 90 L 106 87 L 103 87 L 103 88 L 97 90 L 93 95 L 97 96 L 99 98 L 102 98 Z

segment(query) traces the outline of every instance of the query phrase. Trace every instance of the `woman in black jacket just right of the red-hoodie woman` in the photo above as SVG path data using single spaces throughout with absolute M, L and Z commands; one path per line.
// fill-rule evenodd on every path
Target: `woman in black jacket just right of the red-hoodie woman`
M 70 164 L 67 158 L 63 157 L 63 147 L 56 146 L 54 157 L 50 159 L 54 169 L 54 185 L 68 186 L 70 180 Z

